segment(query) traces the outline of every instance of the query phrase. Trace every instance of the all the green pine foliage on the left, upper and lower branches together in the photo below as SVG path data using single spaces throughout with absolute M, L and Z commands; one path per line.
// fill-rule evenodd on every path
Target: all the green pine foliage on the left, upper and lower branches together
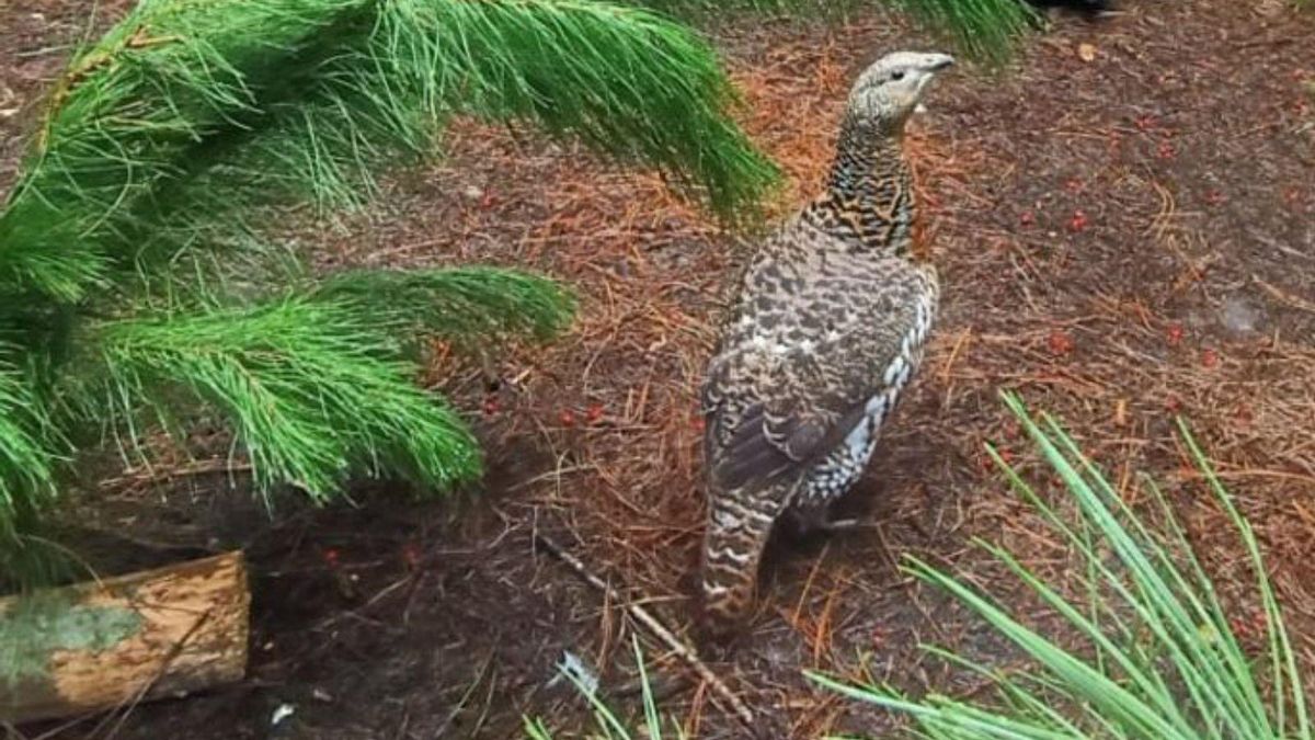
M 0 212 L 0 585 L 46 575 L 42 515 L 87 450 L 225 419 L 268 495 L 354 475 L 439 491 L 475 438 L 418 388 L 417 337 L 548 340 L 543 277 L 313 275 L 263 228 L 367 205 L 452 116 L 517 120 L 751 213 L 773 165 L 717 55 L 590 0 L 142 0 L 70 62 Z

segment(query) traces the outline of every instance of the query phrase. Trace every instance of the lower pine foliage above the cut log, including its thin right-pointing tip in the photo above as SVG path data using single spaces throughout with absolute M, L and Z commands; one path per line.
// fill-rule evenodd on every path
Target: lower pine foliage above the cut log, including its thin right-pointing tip
M 480 475 L 480 449 L 454 410 L 416 386 L 406 337 L 546 341 L 575 311 L 555 282 L 504 269 L 301 279 L 249 304 L 85 321 L 47 394 L 59 403 L 36 392 L 42 374 L 0 367 L 0 586 L 70 571 L 41 527 L 71 482 L 63 428 L 103 428 L 125 454 L 146 457 L 149 431 L 185 444 L 192 416 L 218 413 L 267 503 L 288 483 L 327 502 L 360 475 L 446 491 Z

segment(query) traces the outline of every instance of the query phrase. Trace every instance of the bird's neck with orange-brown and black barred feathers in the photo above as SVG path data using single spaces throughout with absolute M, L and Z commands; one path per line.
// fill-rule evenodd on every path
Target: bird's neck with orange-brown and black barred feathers
M 849 249 L 909 253 L 915 216 L 903 126 L 846 119 L 826 191 L 805 220 Z

